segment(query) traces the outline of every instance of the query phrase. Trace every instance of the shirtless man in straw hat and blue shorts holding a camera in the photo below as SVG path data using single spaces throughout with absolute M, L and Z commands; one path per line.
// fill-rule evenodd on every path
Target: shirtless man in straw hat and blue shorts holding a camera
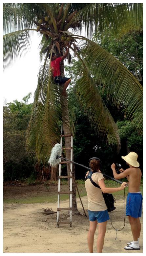
M 141 170 L 138 168 L 137 154 L 130 152 L 127 156 L 122 158 L 126 161 L 130 168 L 123 170 L 120 169 L 120 174 L 116 173 L 115 164 L 111 165 L 113 175 L 115 179 L 127 178 L 128 183 L 128 196 L 126 204 L 126 216 L 129 218 L 131 225 L 131 231 L 133 235 L 133 241 L 128 242 L 125 250 L 140 250 L 139 236 L 141 231 L 141 223 L 139 217 L 141 217 L 142 211 L 142 195 L 140 193 L 141 182 Z

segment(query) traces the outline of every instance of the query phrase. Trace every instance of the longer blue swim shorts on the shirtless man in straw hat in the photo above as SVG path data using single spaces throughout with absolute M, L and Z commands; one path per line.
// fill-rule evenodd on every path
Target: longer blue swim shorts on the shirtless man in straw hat
M 141 193 L 128 193 L 126 203 L 126 216 L 141 217 L 142 195 Z

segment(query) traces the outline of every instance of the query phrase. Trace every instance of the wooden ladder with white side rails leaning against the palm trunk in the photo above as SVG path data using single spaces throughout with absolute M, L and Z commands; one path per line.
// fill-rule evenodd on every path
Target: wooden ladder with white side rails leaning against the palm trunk
M 63 126 L 61 127 L 61 135 L 60 135 L 60 145 L 62 148 L 62 138 L 63 137 L 71 137 L 71 147 L 70 148 L 62 148 L 64 150 L 71 150 L 71 158 L 70 160 L 73 161 L 73 135 L 72 134 L 68 134 L 68 135 L 63 135 Z M 70 168 L 71 168 L 71 172 L 70 175 L 67 176 L 61 176 L 61 165 L 62 164 L 70 164 Z M 57 204 L 57 227 L 59 228 L 60 224 L 70 224 L 70 227 L 72 227 L 72 171 L 73 171 L 73 163 L 69 162 L 69 161 L 61 161 L 61 159 L 59 160 L 59 177 L 58 177 L 58 204 Z M 70 191 L 68 192 L 60 192 L 60 180 L 62 178 L 70 178 Z M 67 208 L 60 208 L 60 195 L 61 194 L 69 194 L 70 195 L 70 203 L 69 203 L 69 207 Z M 70 221 L 64 221 L 64 222 L 60 222 L 59 221 L 59 212 L 62 210 L 69 210 L 70 211 Z

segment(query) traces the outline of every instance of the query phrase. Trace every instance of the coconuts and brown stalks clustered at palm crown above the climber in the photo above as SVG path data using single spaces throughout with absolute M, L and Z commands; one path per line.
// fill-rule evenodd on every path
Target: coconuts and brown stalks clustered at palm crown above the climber
M 54 51 L 59 54 L 62 53 L 64 49 L 67 49 L 67 46 L 72 45 L 71 49 L 74 51 L 74 56 L 77 53 L 77 41 L 74 39 L 73 34 L 68 32 L 69 28 L 76 28 L 80 26 L 80 21 L 75 20 L 74 16 L 77 13 L 77 10 L 73 11 L 73 13 L 66 14 L 65 18 L 65 8 L 64 4 L 55 4 L 54 10 L 52 13 L 48 11 L 49 16 L 40 17 L 39 20 L 34 21 L 36 24 L 36 31 L 44 34 L 47 40 L 49 41 L 49 45 L 55 45 Z M 71 34 L 71 35 L 70 35 Z M 71 55 L 68 55 L 68 61 L 71 61 Z

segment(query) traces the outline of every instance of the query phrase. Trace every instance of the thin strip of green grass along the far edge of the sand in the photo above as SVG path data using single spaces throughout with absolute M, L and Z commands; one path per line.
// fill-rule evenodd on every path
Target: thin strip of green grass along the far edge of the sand
M 80 197 L 86 196 L 87 193 L 86 193 L 85 186 L 84 186 L 85 181 L 77 180 L 76 183 L 77 183 Z M 67 185 L 67 184 L 68 184 L 67 180 L 62 181 L 62 185 Z M 105 180 L 106 187 L 116 187 L 116 184 L 117 183 L 112 180 Z M 117 186 L 119 187 L 120 184 L 117 184 Z M 141 194 L 143 195 L 143 185 L 142 184 L 140 186 L 140 191 L 141 191 Z M 115 199 L 123 199 L 124 191 L 122 190 L 122 191 L 118 191 L 118 192 L 115 192 L 112 194 L 115 197 Z M 128 194 L 128 188 L 125 189 L 126 197 L 127 197 L 127 194 Z M 76 191 L 76 197 L 78 197 L 77 191 Z M 48 196 L 36 196 L 36 197 L 29 196 L 28 198 L 21 198 L 21 199 L 4 199 L 4 203 L 44 203 L 44 202 L 54 203 L 54 202 L 57 202 L 57 198 L 58 198 L 57 192 L 56 192 L 56 194 L 54 194 L 54 193 L 51 194 L 51 191 L 50 191 Z M 66 200 L 66 199 L 69 199 L 68 194 L 60 195 L 61 201 Z

